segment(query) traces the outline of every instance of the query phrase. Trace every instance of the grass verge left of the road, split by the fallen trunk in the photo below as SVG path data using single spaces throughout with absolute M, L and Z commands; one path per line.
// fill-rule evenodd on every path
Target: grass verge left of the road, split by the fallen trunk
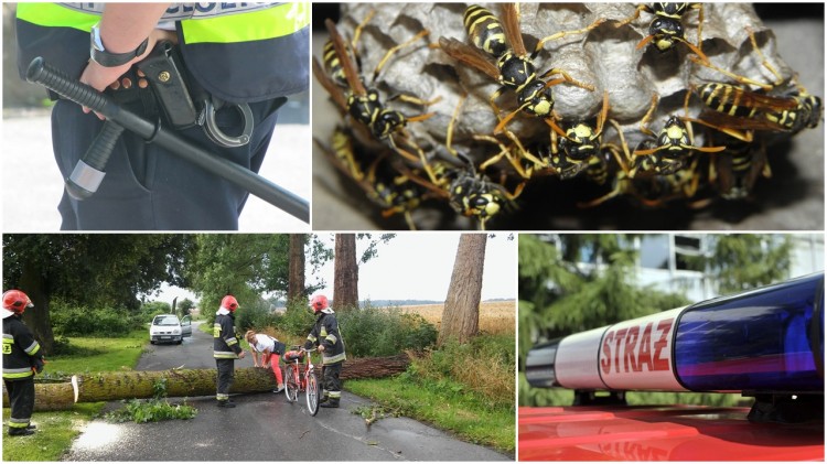
M 49 356 L 44 378 L 65 378 L 73 374 L 131 370 L 148 342 L 146 331 L 135 331 L 123 338 L 68 337 L 64 354 Z M 40 376 L 39 376 L 40 377 Z M 3 461 L 60 461 L 94 419 L 105 402 L 78 403 L 68 411 L 44 411 L 32 414 L 37 432 L 30 436 L 7 436 L 11 414 L 3 408 Z

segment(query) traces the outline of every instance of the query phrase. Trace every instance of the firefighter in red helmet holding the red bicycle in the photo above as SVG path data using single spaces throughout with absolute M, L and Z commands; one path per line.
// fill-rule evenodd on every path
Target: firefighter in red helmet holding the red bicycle
M 318 346 L 322 354 L 322 408 L 339 408 L 342 398 L 342 364 L 345 362 L 344 339 L 339 332 L 339 322 L 333 310 L 327 305 L 327 298 L 315 295 L 310 300 L 310 307 L 319 317 L 308 335 L 304 348 Z

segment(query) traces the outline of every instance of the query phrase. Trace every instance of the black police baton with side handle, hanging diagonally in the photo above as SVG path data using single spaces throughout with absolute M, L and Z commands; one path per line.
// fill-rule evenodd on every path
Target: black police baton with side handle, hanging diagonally
M 42 57 L 34 58 L 29 65 L 26 80 L 40 84 L 66 99 L 104 115 L 107 118 L 107 121 L 111 121 L 123 129 L 135 132 L 148 142 L 158 143 L 173 154 L 179 155 L 184 160 L 201 166 L 205 171 L 240 186 L 241 188 L 245 188 L 250 194 L 258 196 L 265 202 L 270 203 L 277 208 L 282 209 L 304 223 L 310 224 L 310 206 L 305 199 L 273 184 L 264 176 L 241 165 L 219 158 L 200 147 L 193 145 L 176 136 L 174 132 L 164 129 L 160 123 L 148 121 L 142 117 L 119 107 L 108 96 L 97 91 L 95 88 L 86 84 L 68 77 L 62 71 L 55 69 L 46 64 Z M 112 131 L 107 137 L 117 140 L 117 136 L 119 136 L 120 132 L 117 132 L 117 136 L 115 136 L 116 131 Z M 97 145 L 97 143 L 94 143 L 94 145 Z M 89 157 L 84 157 L 84 160 L 87 160 L 87 158 Z M 87 175 L 93 177 L 97 176 L 103 179 L 103 168 L 106 164 L 108 154 L 104 155 L 98 153 L 92 158 L 95 161 L 87 163 L 87 168 L 89 169 L 82 168 L 82 171 L 85 171 Z M 97 171 L 97 173 L 95 173 L 95 171 Z M 99 183 L 100 179 L 97 179 L 97 183 Z M 73 183 L 75 185 L 79 184 L 80 188 L 75 188 Z M 93 181 L 89 186 L 84 185 L 83 174 L 75 176 L 73 173 L 73 176 L 67 180 L 67 188 L 69 188 L 69 193 L 73 193 L 74 191 L 74 195 L 78 195 L 78 197 L 88 196 L 95 188 L 97 188 L 95 181 Z M 87 192 L 84 192 L 84 190 Z

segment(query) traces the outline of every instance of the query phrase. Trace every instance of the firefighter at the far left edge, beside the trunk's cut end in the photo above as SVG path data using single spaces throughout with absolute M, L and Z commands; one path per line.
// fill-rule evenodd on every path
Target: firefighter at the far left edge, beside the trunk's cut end
M 3 384 L 9 392 L 11 418 L 9 435 L 31 435 L 36 429 L 31 423 L 34 410 L 34 374 L 43 371 L 43 352 L 21 317 L 33 307 L 29 296 L 20 290 L 3 293 Z

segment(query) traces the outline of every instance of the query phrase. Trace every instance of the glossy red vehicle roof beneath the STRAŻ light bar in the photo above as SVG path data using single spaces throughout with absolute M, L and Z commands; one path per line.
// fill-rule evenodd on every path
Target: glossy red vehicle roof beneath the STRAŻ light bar
M 824 423 L 750 423 L 749 408 L 519 408 L 519 461 L 821 461 Z

